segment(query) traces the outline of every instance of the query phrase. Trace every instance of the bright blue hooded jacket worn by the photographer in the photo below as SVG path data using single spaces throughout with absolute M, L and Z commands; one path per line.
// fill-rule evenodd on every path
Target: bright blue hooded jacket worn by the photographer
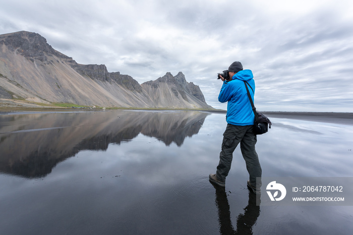
M 226 120 L 228 124 L 248 126 L 254 124 L 255 115 L 248 98 L 244 81 L 247 81 L 255 92 L 255 81 L 251 70 L 242 70 L 236 73 L 231 81 L 224 81 L 218 95 L 218 101 L 228 102 Z M 251 98 L 254 101 L 254 93 L 250 87 Z

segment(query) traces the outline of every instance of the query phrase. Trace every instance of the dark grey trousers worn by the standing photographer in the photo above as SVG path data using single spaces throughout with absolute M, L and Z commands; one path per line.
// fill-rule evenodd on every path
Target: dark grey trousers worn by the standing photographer
M 219 154 L 219 164 L 217 166 L 217 179 L 225 182 L 233 159 L 233 152 L 240 143 L 247 170 L 250 176 L 250 184 L 258 189 L 261 187 L 261 179 L 256 183 L 256 177 L 261 177 L 261 165 L 255 150 L 257 138 L 253 133 L 253 126 L 227 125 L 223 133 L 222 151 Z

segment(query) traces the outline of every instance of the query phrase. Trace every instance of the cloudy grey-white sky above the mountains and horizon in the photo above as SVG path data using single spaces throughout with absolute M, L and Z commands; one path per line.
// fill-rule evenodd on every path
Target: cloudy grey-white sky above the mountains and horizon
M 12 0 L 0 34 L 39 33 L 140 84 L 181 71 L 215 108 L 217 73 L 240 61 L 258 110 L 352 112 L 352 12 L 351 0 Z

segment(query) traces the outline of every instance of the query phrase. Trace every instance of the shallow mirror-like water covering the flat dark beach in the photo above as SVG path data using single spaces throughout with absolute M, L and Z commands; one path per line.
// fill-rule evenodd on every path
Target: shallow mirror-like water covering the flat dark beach
M 269 117 L 263 177 L 353 176 L 353 126 Z M 257 206 L 239 148 L 225 190 L 210 184 L 225 127 L 199 111 L 0 115 L 0 234 L 351 232 L 352 206 Z

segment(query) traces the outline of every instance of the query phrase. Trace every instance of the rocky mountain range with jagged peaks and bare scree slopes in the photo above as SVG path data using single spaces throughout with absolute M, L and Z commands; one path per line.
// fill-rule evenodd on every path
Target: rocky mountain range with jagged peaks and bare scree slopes
M 209 106 L 199 86 L 182 72 L 139 84 L 105 65 L 81 65 L 26 31 L 0 35 L 1 100 L 101 107 L 199 108 Z

